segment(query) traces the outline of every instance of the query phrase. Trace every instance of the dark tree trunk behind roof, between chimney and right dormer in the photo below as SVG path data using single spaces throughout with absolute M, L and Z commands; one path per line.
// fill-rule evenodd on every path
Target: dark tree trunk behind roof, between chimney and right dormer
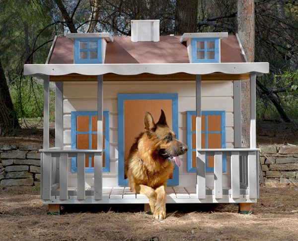
M 176 0 L 175 35 L 197 32 L 198 0 Z

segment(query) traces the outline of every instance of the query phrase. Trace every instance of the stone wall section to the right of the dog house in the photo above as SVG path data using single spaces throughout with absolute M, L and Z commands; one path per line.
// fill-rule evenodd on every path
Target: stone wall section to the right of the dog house
M 260 146 L 265 184 L 298 183 L 298 146 Z

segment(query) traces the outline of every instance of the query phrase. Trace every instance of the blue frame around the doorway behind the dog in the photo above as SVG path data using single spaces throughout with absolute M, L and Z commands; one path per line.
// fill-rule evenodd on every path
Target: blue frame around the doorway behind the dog
M 178 137 L 178 94 L 118 94 L 118 184 L 127 186 L 128 180 L 124 176 L 124 101 L 125 100 L 172 100 L 172 127 Z M 175 164 L 173 178 L 168 179 L 168 186 L 179 185 L 179 167 Z

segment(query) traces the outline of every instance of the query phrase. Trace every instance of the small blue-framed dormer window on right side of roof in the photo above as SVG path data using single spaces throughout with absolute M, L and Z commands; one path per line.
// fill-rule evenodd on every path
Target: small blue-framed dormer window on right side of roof
M 192 63 L 219 63 L 219 38 L 194 38 L 191 40 Z

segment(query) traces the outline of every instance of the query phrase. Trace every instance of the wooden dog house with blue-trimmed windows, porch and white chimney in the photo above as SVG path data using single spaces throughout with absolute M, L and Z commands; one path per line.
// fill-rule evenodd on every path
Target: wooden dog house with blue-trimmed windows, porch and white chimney
M 237 35 L 159 36 L 159 20 L 133 20 L 132 36 L 55 37 L 44 80 L 41 199 L 59 204 L 149 203 L 130 191 L 124 160 L 149 111 L 163 109 L 188 145 L 167 183 L 167 203 L 246 203 L 259 196 L 256 76 Z M 250 80 L 250 148 L 241 147 L 241 80 Z M 49 146 L 49 84 L 55 84 L 55 147 Z M 56 205 L 56 206 L 55 206 Z M 245 206 L 245 205 L 244 205 Z

